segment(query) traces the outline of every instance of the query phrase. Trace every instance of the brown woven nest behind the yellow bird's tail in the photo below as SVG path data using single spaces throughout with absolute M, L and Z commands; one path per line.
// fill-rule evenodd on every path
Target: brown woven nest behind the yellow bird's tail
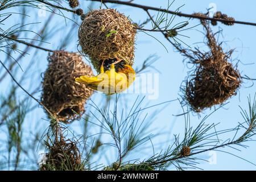
M 85 84 L 75 82 L 75 78 L 93 76 L 92 69 L 77 53 L 55 51 L 48 56 L 48 61 L 43 78 L 43 105 L 58 121 L 68 123 L 80 118 L 93 91 Z

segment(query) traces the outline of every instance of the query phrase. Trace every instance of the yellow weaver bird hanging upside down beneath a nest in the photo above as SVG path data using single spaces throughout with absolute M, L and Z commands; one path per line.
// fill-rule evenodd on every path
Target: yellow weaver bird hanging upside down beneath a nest
M 116 62 L 117 63 L 117 62 Z M 104 64 L 101 64 L 100 74 L 94 77 L 80 76 L 75 80 L 86 84 L 93 90 L 98 90 L 111 95 L 126 90 L 135 80 L 135 71 L 130 65 L 124 65 L 115 72 L 115 64 L 110 65 L 108 71 L 104 71 Z

